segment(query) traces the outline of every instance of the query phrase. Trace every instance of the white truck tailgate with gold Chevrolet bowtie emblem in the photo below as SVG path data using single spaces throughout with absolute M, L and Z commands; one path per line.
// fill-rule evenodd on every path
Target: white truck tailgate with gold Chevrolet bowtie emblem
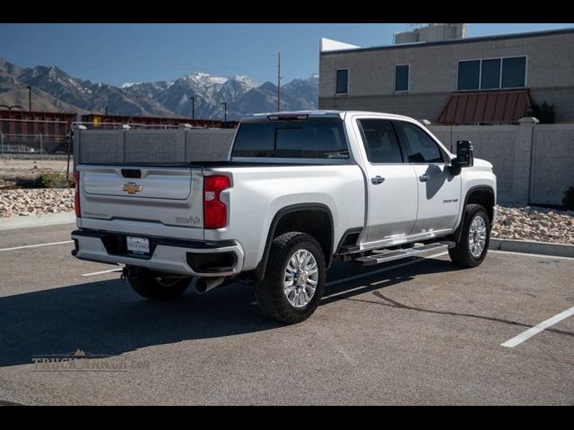
M 204 238 L 200 168 L 78 165 L 78 171 L 80 227 Z

